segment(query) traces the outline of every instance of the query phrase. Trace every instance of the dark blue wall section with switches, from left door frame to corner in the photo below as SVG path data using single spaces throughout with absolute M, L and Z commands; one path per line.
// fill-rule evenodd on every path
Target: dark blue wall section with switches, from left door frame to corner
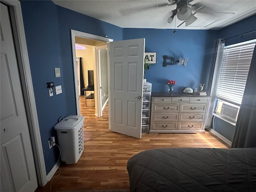
M 54 125 L 60 116 L 66 116 L 65 86 L 60 55 L 60 40 L 56 6 L 51 1 L 21 1 L 30 70 L 36 100 L 38 122 L 48 174 L 58 160 L 58 148 L 49 149 L 50 136 L 56 137 Z M 61 69 L 55 78 L 54 67 Z M 62 85 L 62 94 L 49 96 L 46 82 Z M 57 138 L 56 138 L 57 140 Z

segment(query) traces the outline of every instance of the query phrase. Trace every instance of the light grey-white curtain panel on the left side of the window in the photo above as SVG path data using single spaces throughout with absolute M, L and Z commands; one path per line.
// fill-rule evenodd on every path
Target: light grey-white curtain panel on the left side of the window
M 216 100 L 217 85 L 219 81 L 224 46 L 225 46 L 225 43 L 221 39 L 217 39 L 215 41 L 215 47 L 216 47 L 215 56 L 214 56 L 215 59 L 212 65 L 212 69 L 210 71 L 210 76 L 208 81 L 208 84 L 211 86 L 208 87 L 208 90 L 207 90 L 207 92 L 210 93 L 211 97 L 210 97 L 208 112 L 206 114 L 206 128 L 210 128 L 212 124 L 212 114 L 214 111 L 214 104 Z

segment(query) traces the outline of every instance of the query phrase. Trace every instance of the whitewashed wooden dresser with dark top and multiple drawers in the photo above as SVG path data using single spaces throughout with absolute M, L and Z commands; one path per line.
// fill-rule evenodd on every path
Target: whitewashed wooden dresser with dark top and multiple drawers
M 204 134 L 209 96 L 152 93 L 150 133 Z

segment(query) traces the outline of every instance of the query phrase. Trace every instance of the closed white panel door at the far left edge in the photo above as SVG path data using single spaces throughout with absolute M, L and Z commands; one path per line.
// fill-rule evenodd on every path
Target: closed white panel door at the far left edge
M 1 3 L 1 192 L 38 186 L 8 7 Z

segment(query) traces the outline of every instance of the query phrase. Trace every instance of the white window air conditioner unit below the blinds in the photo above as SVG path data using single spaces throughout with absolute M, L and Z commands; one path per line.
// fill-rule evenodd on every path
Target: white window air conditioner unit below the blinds
M 236 122 L 238 116 L 239 107 L 231 104 L 224 103 L 218 100 L 216 113 L 220 116 Z

